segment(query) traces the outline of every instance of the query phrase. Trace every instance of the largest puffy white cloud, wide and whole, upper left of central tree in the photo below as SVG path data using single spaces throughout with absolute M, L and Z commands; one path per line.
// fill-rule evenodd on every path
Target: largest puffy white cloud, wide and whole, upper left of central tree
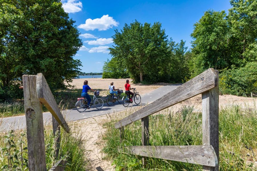
M 86 23 L 79 25 L 78 28 L 82 28 L 84 30 L 98 29 L 99 31 L 102 31 L 118 25 L 119 22 L 115 21 L 113 17 L 109 17 L 109 15 L 103 15 L 103 17 L 101 17 L 100 19 L 87 19 Z

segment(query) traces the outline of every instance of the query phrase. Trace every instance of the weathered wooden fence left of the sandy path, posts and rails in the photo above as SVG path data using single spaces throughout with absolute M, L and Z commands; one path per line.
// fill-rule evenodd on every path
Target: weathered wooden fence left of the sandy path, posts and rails
M 59 159 L 60 126 L 69 133 L 69 127 L 51 93 L 43 74 L 23 75 L 24 107 L 27 124 L 28 156 L 30 171 L 45 171 L 45 139 L 42 104 L 52 114 L 53 134 L 56 135 L 55 157 Z M 59 131 L 57 131 L 59 130 Z M 50 170 L 64 170 L 65 161 L 59 160 Z M 49 170 L 49 171 L 50 171 Z

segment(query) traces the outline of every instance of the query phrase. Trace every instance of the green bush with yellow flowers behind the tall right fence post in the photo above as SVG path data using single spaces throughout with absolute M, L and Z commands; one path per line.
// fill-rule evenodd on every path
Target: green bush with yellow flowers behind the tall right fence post
M 220 93 L 249 96 L 257 92 L 257 62 L 249 62 L 241 68 L 222 70 L 219 75 Z

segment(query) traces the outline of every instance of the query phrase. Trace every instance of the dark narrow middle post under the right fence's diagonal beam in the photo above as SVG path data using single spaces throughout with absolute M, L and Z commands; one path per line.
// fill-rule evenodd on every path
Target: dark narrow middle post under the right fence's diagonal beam
M 141 119 L 142 145 L 149 145 L 149 116 Z M 146 168 L 146 157 L 142 156 L 142 164 Z

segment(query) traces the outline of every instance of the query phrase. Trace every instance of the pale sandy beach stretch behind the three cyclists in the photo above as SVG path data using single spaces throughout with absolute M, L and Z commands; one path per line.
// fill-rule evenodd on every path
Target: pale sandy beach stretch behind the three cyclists
M 131 88 L 136 88 L 136 91 L 140 92 L 140 94 L 144 94 L 150 92 L 160 86 L 168 85 L 167 83 L 157 83 L 151 85 L 142 85 L 142 84 L 133 84 L 132 79 L 102 79 L 102 78 L 80 78 L 73 79 L 73 82 L 70 83 L 72 86 L 75 86 L 77 89 L 82 89 L 83 82 L 88 80 L 88 85 L 90 88 L 94 90 L 99 90 L 100 95 L 108 95 L 109 94 L 109 85 L 111 82 L 114 82 L 115 89 L 122 89 L 125 92 L 124 85 L 126 84 L 126 80 L 129 80 L 129 84 Z

